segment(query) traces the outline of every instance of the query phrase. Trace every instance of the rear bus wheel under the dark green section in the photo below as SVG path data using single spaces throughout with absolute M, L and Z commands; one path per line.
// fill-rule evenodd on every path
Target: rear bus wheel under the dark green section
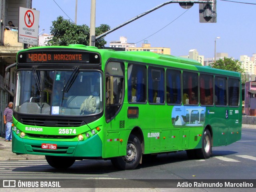
M 196 156 L 200 159 L 208 159 L 212 154 L 212 137 L 208 129 L 204 130 L 202 148 L 196 149 Z

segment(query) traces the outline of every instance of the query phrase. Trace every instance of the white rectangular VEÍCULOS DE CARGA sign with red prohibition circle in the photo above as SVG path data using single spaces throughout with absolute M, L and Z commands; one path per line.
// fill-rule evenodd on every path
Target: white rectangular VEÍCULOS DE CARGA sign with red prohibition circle
M 39 11 L 20 7 L 18 42 L 38 45 Z

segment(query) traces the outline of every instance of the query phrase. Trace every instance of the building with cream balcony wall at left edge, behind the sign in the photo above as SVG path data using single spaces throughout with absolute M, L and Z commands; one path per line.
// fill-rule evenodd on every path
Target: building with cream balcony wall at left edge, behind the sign
M 0 1 L 0 135 L 5 135 L 3 114 L 8 102 L 13 97 L 4 88 L 5 68 L 16 62 L 17 52 L 24 48 L 18 42 L 19 7 L 31 8 L 32 0 L 1 0 Z M 12 21 L 15 30 L 7 30 L 8 22 Z M 6 28 L 7 27 L 7 28 Z M 10 28 L 9 28 L 10 29 Z M 15 68 L 10 70 L 10 85 L 8 90 L 14 92 Z

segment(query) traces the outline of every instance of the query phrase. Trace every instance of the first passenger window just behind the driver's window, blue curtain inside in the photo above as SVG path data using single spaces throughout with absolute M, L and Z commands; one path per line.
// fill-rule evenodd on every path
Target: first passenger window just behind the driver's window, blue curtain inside
M 146 66 L 128 65 L 128 102 L 146 102 Z

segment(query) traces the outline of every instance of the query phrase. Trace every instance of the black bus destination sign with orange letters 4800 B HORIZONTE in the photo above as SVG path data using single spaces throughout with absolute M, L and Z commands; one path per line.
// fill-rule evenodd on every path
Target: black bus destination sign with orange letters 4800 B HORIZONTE
M 97 53 L 87 52 L 21 52 L 18 55 L 18 63 L 99 64 L 99 58 Z

